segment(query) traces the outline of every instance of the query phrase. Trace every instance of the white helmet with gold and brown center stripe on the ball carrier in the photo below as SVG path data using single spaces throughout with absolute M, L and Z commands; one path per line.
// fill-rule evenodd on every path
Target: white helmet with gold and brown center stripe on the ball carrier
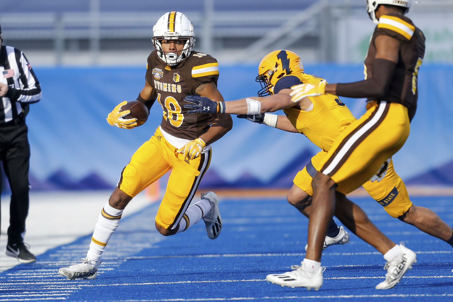
M 181 54 L 164 53 L 161 44 L 162 40 L 172 39 L 186 40 Z M 195 45 L 193 24 L 190 19 L 181 12 L 171 11 L 165 13 L 157 20 L 156 25 L 153 27 L 153 46 L 157 50 L 159 58 L 170 66 L 176 65 L 187 58 L 193 45 Z

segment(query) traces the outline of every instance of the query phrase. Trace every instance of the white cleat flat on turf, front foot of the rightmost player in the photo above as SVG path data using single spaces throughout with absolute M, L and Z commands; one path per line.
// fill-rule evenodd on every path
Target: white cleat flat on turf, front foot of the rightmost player
M 287 287 L 305 287 L 308 290 L 314 289 L 317 291 L 319 287 L 323 286 L 323 272 L 326 270 L 325 266 L 319 268 L 319 270 L 312 274 L 307 271 L 304 267 L 304 262 L 299 265 L 292 265 L 292 272 L 286 272 L 282 274 L 270 274 L 266 276 L 266 280 L 281 286 Z

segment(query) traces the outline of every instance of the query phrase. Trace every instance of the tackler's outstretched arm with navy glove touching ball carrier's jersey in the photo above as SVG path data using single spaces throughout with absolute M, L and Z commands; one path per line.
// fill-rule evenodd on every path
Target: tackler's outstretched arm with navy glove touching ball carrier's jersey
M 201 94 L 187 96 L 184 100 L 193 103 L 184 105 L 192 109 L 188 111 L 189 113 L 260 114 L 294 106 L 287 93 L 277 93 L 267 97 L 246 97 L 228 102 L 215 102 Z

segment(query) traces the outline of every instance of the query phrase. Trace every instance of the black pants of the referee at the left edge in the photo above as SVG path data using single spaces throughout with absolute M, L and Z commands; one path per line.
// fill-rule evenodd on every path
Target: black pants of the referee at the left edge
M 0 126 L 0 159 L 11 187 L 8 244 L 24 241 L 30 190 L 30 145 L 27 134 L 28 127 L 25 122 L 13 126 Z

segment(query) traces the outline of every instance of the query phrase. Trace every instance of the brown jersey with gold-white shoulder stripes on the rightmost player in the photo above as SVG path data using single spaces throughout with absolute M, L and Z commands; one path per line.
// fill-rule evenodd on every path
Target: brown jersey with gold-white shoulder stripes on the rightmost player
M 425 52 L 425 37 L 406 16 L 398 13 L 382 15 L 371 37 L 370 48 L 365 59 L 366 78 L 373 77 L 373 63 L 376 57 L 375 40 L 380 34 L 401 41 L 401 46 L 400 58 L 396 64 L 389 90 L 379 100 L 403 104 L 408 108 L 409 118 L 412 120 L 417 108 L 417 79 Z

